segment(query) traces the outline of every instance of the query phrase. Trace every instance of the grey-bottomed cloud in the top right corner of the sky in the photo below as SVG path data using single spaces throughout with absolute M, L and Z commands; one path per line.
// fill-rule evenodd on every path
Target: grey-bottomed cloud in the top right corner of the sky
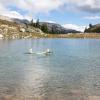
M 68 3 L 73 6 L 73 9 L 78 11 L 100 13 L 100 0 L 69 0 Z

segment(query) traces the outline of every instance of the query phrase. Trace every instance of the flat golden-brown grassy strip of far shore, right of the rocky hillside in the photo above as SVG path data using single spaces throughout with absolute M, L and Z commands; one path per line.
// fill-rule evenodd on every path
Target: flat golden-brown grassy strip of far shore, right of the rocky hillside
M 33 34 L 31 38 L 100 38 L 100 33 Z

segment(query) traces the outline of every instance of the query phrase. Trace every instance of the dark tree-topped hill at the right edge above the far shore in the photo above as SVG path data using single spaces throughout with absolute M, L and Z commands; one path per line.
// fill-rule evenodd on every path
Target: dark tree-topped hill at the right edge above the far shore
M 87 33 L 100 33 L 100 24 L 92 25 L 89 24 L 89 28 L 85 29 Z

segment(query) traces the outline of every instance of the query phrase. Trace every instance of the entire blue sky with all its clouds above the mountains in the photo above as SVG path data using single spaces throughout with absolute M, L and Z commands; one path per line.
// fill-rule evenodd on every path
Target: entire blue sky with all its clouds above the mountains
M 0 0 L 0 15 L 58 23 L 84 31 L 100 21 L 100 0 Z

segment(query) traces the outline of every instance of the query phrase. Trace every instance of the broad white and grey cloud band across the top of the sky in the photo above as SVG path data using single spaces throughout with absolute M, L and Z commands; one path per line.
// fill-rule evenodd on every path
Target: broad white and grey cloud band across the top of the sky
M 48 13 L 52 10 L 58 10 L 64 5 L 67 5 L 67 8 L 72 5 L 73 9 L 76 7 L 84 11 L 100 11 L 100 0 L 0 0 L 0 4 L 3 7 L 14 5 L 32 13 Z

